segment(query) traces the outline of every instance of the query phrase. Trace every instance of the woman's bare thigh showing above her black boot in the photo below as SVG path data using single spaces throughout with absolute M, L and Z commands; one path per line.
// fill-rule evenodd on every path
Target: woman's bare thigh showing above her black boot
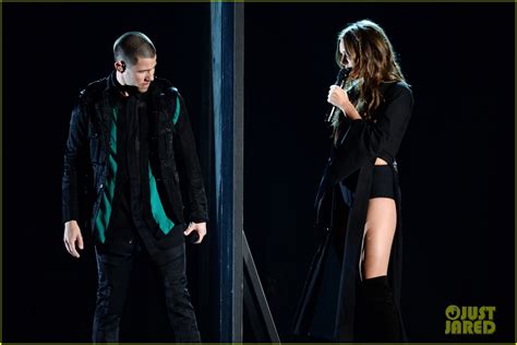
M 373 198 L 368 204 L 364 225 L 363 278 L 387 274 L 393 238 L 397 226 L 395 200 Z

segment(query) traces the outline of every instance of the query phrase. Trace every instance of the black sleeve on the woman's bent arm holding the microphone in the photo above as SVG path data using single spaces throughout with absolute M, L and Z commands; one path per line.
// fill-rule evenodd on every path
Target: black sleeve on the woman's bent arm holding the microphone
M 329 177 L 336 182 L 372 163 L 393 139 L 401 139 L 411 116 L 413 98 L 406 85 L 396 85 L 376 122 L 351 120 L 335 151 Z

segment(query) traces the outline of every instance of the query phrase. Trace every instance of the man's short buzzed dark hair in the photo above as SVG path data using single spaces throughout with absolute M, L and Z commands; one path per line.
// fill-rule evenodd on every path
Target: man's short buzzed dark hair
M 153 45 L 149 37 L 140 32 L 128 32 L 117 38 L 113 44 L 115 61 L 136 64 L 139 58 L 154 58 L 155 56 L 155 45 Z

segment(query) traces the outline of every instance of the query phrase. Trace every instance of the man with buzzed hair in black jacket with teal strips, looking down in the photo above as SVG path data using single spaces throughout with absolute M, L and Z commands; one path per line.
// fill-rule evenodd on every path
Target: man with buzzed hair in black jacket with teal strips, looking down
M 200 342 L 187 289 L 184 236 L 200 243 L 208 217 L 183 99 L 155 78 L 156 49 L 144 34 L 123 34 L 113 56 L 115 71 L 89 84 L 72 111 L 62 180 L 70 254 L 80 258 L 84 248 L 83 221 L 94 231 L 93 340 L 118 342 L 132 260 L 145 251 L 161 273 L 176 341 Z

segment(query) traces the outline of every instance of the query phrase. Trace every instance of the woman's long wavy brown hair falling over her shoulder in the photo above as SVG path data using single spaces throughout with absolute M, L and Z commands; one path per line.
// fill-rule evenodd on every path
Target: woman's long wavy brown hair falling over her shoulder
M 353 62 L 345 90 L 361 117 L 374 120 L 373 112 L 382 103 L 381 83 L 406 81 L 392 43 L 384 29 L 372 21 L 349 24 L 337 36 L 336 63 L 339 68 L 346 64 L 346 58 L 339 49 L 341 41 L 346 56 Z M 339 111 L 336 112 L 333 119 L 334 135 L 340 123 Z

